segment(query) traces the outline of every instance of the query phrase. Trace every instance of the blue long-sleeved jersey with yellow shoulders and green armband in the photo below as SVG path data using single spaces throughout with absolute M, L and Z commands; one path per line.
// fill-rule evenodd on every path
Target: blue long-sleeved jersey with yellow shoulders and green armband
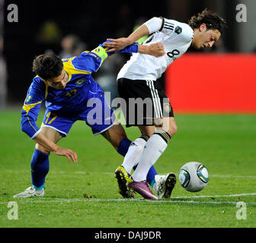
M 69 116 L 87 108 L 90 93 L 99 89 L 91 74 L 98 71 L 102 62 L 114 52 L 107 53 L 103 44 L 91 52 L 63 58 L 63 68 L 68 74 L 68 82 L 62 90 L 50 87 L 39 76 L 34 77 L 27 90 L 24 106 L 21 109 L 21 130 L 34 138 L 39 132 L 36 125 L 40 106 L 45 101 L 46 108 L 58 115 Z M 138 44 L 127 46 L 120 52 L 138 52 Z

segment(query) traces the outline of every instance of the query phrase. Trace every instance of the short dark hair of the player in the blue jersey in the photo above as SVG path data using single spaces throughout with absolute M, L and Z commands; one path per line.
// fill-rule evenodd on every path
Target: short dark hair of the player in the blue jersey
M 58 77 L 62 68 L 61 58 L 53 53 L 47 53 L 34 58 L 32 70 L 44 80 L 50 80 Z

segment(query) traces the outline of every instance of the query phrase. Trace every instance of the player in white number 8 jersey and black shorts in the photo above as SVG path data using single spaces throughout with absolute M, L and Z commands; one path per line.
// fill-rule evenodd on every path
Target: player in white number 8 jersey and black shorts
M 130 146 L 123 164 L 116 170 L 119 187 L 123 190 L 136 191 L 146 199 L 162 198 L 165 185 L 155 183 L 153 188 L 158 192 L 158 197 L 155 197 L 146 182 L 146 175 L 165 151 L 168 141 L 176 134 L 177 125 L 168 97 L 157 80 L 190 46 L 196 49 L 212 47 L 219 40 L 225 26 L 225 21 L 218 14 L 207 10 L 191 17 L 188 24 L 164 17 L 152 17 L 127 38 L 108 39 L 113 43 L 104 44 L 110 48 L 109 52 L 112 52 L 123 49 L 142 36 L 151 35 L 143 44 L 162 43 L 165 48 L 165 55 L 160 58 L 133 54 L 117 76 L 120 97 L 126 101 L 122 106 L 125 108 L 123 112 L 126 127 L 137 126 L 145 137 L 149 137 L 144 143 L 139 138 L 134 140 L 133 144 L 136 146 Z M 131 101 L 138 98 L 151 101 L 152 109 L 147 109 L 147 106 L 132 106 Z M 138 147 L 142 149 L 138 150 Z M 139 159 L 134 159 L 136 156 L 139 156 Z M 135 171 L 129 176 L 136 163 Z M 158 181 L 163 179 L 161 175 L 156 177 L 155 180 Z M 174 173 L 168 174 L 168 181 L 171 184 L 168 195 L 170 196 L 176 182 Z

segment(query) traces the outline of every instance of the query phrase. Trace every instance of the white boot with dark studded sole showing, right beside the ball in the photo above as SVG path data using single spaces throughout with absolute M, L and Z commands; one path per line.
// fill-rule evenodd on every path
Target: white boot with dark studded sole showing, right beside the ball
M 174 173 L 167 175 L 155 175 L 155 184 L 153 185 L 154 191 L 158 194 L 158 198 L 171 197 L 171 191 L 176 184 L 176 176 Z

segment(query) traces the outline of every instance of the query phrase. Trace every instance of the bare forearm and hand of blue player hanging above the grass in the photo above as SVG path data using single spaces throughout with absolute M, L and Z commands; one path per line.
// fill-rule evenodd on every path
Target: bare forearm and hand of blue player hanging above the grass
M 77 163 L 77 154 L 69 149 L 59 147 L 57 144 L 53 143 L 52 140 L 48 139 L 43 133 L 37 134 L 36 137 L 33 139 L 37 144 L 45 147 L 47 151 L 53 151 L 56 155 L 59 156 L 66 156 L 69 160 L 72 159 L 73 163 Z

